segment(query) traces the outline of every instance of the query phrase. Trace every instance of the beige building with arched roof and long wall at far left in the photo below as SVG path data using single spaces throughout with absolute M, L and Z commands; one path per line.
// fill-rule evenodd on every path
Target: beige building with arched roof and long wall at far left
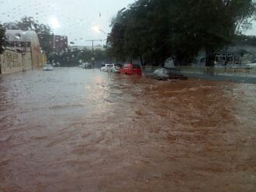
M 36 32 L 7 29 L 5 37 L 7 45 L 0 57 L 2 74 L 39 69 L 47 62 Z

